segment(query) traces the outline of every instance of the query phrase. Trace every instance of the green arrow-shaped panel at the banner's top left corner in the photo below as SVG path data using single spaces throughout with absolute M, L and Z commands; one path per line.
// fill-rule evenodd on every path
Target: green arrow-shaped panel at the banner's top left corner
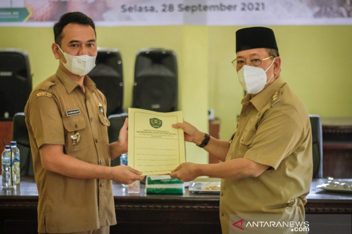
M 25 22 L 31 16 L 32 12 L 28 7 L 0 8 L 0 22 Z

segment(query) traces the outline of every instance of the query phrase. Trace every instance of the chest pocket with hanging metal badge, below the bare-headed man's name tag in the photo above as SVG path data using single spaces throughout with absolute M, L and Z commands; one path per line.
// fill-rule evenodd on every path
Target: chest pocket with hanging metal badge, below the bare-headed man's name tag
M 69 116 L 62 120 L 65 128 L 65 149 L 66 152 L 78 151 L 88 147 L 86 121 L 82 116 Z M 73 144 L 71 136 L 80 134 L 80 140 Z

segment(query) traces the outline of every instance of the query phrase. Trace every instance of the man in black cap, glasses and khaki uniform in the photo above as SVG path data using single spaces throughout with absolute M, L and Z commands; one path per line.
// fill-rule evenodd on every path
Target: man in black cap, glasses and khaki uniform
M 245 217 L 242 222 L 258 220 L 248 214 L 277 214 L 276 221 L 304 221 L 313 167 L 307 109 L 280 76 L 281 58 L 271 29 L 238 30 L 236 53 L 233 65 L 247 95 L 241 102 L 238 126 L 230 143 L 209 137 L 189 123 L 174 126 L 183 128 L 186 141 L 204 147 L 224 163 L 186 162 L 171 177 L 182 181 L 201 175 L 222 178 L 222 233 L 243 231 L 240 229 L 244 228 L 243 223 L 235 223 L 241 220 L 233 218 L 234 214 Z M 263 215 L 262 221 L 266 217 L 269 216 Z M 271 227 L 258 230 L 277 231 Z M 291 227 L 281 228 L 278 233 L 290 230 Z

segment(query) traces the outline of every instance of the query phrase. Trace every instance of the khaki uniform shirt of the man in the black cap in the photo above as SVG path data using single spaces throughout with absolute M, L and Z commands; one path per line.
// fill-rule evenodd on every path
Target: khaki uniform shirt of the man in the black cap
M 257 178 L 223 179 L 220 221 L 231 214 L 298 214 L 312 181 L 312 133 L 303 102 L 278 77 L 251 99 L 247 94 L 226 161 L 246 158 L 270 168 Z M 236 220 L 237 221 L 237 220 Z

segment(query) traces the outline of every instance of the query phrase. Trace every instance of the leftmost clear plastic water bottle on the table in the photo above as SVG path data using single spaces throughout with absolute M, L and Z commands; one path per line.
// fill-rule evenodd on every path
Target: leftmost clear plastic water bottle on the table
M 15 185 L 13 181 L 13 156 L 11 157 L 11 147 L 9 145 L 5 146 L 4 152 L 1 154 L 1 167 L 2 187 L 13 188 Z

